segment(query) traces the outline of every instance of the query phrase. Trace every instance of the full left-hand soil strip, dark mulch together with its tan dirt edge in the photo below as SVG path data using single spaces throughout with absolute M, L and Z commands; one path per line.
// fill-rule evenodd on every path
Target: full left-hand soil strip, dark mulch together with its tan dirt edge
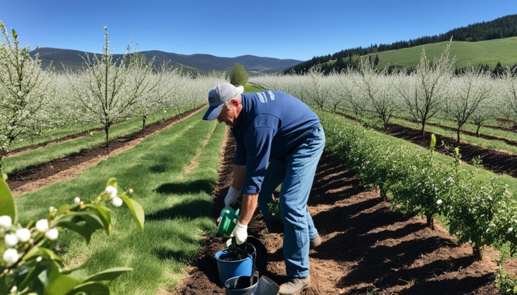
M 67 181 L 81 174 L 89 167 L 128 150 L 142 142 L 147 136 L 156 134 L 200 112 L 204 106 L 179 114 L 173 118 L 149 125 L 144 132 L 135 132 L 110 141 L 110 151 L 105 146 L 83 150 L 70 157 L 43 163 L 9 176 L 7 183 L 14 194 L 38 190 L 58 181 Z

